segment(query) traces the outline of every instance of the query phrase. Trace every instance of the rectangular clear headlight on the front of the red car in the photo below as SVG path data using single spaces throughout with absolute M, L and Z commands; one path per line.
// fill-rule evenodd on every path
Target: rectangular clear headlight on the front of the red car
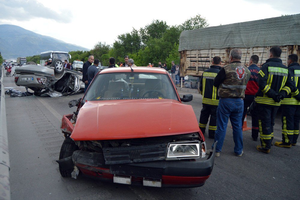
M 166 160 L 199 158 L 200 146 L 200 142 L 168 143 Z

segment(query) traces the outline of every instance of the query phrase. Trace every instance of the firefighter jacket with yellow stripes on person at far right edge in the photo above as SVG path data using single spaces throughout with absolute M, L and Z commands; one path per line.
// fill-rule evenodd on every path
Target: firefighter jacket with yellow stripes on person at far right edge
M 281 100 L 281 105 L 283 106 L 300 106 L 300 65 L 299 63 L 291 63 L 288 67 L 289 73 L 291 74 L 293 87 L 291 88 L 291 93 L 287 95 L 283 100 Z M 296 98 L 297 99 L 296 99 Z

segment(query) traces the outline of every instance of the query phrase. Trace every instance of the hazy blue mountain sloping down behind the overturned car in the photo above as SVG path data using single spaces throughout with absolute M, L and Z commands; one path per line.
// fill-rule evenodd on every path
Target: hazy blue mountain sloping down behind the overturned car
M 44 51 L 89 51 L 88 48 L 40 35 L 20 26 L 0 25 L 0 52 L 4 59 L 38 55 Z

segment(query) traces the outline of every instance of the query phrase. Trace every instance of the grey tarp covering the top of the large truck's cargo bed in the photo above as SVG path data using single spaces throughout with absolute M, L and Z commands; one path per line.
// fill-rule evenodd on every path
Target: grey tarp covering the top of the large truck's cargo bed
M 300 14 L 183 31 L 179 50 L 299 45 Z

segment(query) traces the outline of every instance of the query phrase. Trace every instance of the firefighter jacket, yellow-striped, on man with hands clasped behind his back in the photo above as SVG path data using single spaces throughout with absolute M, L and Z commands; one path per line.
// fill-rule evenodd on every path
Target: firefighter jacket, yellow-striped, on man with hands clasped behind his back
M 258 72 L 258 87 L 255 102 L 268 106 L 280 106 L 272 97 L 291 93 L 292 79 L 288 69 L 280 58 L 270 58 Z

